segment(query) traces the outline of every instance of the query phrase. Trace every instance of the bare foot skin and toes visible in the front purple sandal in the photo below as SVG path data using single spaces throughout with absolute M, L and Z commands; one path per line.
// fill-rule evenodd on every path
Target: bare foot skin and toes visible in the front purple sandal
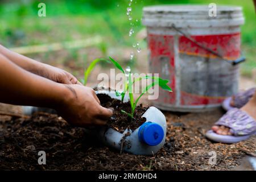
M 247 102 L 247 104 L 245 106 L 243 106 L 241 108 L 241 110 L 245 111 L 247 114 L 249 114 L 251 117 L 253 117 L 254 120 L 256 121 L 256 112 L 255 112 L 256 111 L 256 99 L 255 98 L 253 98 L 249 102 Z M 212 127 L 212 130 L 219 135 L 232 135 L 232 133 L 230 133 L 229 127 L 214 125 Z

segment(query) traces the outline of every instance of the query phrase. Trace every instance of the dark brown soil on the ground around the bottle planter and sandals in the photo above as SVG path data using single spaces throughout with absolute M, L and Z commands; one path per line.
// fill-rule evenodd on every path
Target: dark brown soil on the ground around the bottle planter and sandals
M 236 144 L 214 143 L 204 133 L 221 117 L 205 113 L 170 113 L 164 147 L 154 156 L 131 155 L 103 146 L 88 130 L 68 125 L 61 117 L 35 113 L 30 118 L 0 115 L 0 169 L 26 170 L 229 170 L 255 155 L 256 137 Z M 4 116 L 3 116 L 4 117 Z M 46 152 L 46 165 L 38 152 Z M 217 164 L 209 164 L 209 152 Z

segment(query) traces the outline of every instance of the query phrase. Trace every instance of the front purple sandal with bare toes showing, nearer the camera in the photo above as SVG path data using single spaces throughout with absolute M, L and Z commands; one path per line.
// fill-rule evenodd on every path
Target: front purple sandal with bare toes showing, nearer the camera
M 256 134 L 256 121 L 245 111 L 234 108 L 222 116 L 215 125 L 222 125 L 230 128 L 233 135 L 219 135 L 212 130 L 207 131 L 205 137 L 215 142 L 237 143 Z

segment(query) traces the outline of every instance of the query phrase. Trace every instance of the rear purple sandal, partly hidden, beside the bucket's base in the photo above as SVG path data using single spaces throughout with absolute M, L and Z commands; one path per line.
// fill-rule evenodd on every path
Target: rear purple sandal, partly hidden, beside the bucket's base
M 255 91 L 256 91 L 256 88 L 251 88 L 251 89 L 245 90 L 244 92 L 240 92 L 234 95 L 234 106 L 230 106 L 232 97 L 228 97 L 222 102 L 222 107 L 227 111 L 234 108 L 241 108 L 250 100 L 251 97 L 253 97 L 253 94 L 255 93 Z

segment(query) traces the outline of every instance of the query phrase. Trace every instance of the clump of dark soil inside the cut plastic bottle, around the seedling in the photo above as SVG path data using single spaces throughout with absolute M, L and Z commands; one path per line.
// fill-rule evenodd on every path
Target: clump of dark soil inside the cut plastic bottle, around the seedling
M 122 113 L 122 110 L 126 111 L 126 113 L 131 113 L 130 102 L 122 102 L 111 98 L 107 94 L 97 94 L 97 97 L 102 106 L 113 108 L 113 116 L 108 120 L 107 125 L 121 133 L 127 128 L 135 130 L 146 121 L 146 118 L 142 118 L 142 115 L 148 107 L 143 107 L 142 104 L 136 107 L 134 118 L 131 119 L 127 114 Z

